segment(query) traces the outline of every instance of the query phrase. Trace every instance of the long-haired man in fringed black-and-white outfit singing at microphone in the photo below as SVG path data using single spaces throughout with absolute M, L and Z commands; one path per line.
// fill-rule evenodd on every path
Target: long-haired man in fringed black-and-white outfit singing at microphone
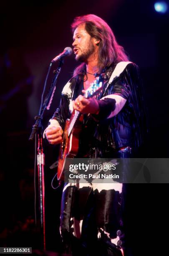
M 129 158 L 142 143 L 142 95 L 136 64 L 129 61 L 108 24 L 96 15 L 76 17 L 73 51 L 81 64 L 65 85 L 59 108 L 45 129 L 51 144 L 62 142 L 73 109 L 84 114 L 77 158 Z M 104 74 L 100 97 L 83 95 Z M 124 172 L 127 170 L 124 169 Z M 73 255 L 125 255 L 122 183 L 65 184 L 61 236 Z

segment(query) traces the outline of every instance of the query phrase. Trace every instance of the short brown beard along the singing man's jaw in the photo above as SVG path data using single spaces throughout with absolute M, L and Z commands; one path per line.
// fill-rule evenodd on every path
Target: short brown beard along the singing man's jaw
M 93 54 L 95 48 L 94 48 L 94 45 L 93 45 L 93 42 L 91 40 L 91 38 L 89 39 L 85 49 L 82 49 L 81 50 L 81 54 L 79 55 L 76 55 L 75 59 L 77 61 L 80 61 L 80 62 L 86 62 L 86 60 L 88 59 L 88 57 Z

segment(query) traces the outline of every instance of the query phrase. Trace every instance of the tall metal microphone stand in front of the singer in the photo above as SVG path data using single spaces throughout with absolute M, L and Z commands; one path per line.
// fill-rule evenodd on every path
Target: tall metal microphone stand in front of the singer
M 61 66 L 63 65 L 63 58 L 60 59 L 58 68 L 53 71 L 55 74 L 52 84 L 50 85 L 50 89 L 48 94 L 45 97 L 45 100 L 42 104 L 42 108 L 40 108 L 39 115 L 35 116 L 35 124 L 33 125 L 32 132 L 30 134 L 29 140 L 33 140 L 35 137 L 35 145 L 36 138 L 38 135 L 38 148 L 37 148 L 37 166 L 38 166 L 38 199 L 39 199 L 39 212 L 40 212 L 40 233 L 42 237 L 43 249 L 46 249 L 46 240 L 45 240 L 45 181 L 44 181 L 44 166 L 45 166 L 45 155 L 43 154 L 43 114 L 45 109 L 49 109 L 50 104 L 53 99 L 53 94 L 55 92 L 55 84 L 57 82 L 58 75 L 61 72 Z M 50 67 L 52 62 L 50 63 Z M 50 70 L 50 69 L 49 69 Z

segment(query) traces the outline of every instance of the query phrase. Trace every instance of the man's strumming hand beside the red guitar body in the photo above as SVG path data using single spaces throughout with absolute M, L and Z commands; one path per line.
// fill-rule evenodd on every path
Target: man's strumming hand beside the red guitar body
M 45 135 L 50 144 L 59 144 L 62 142 L 63 130 L 61 126 L 50 127 L 46 129 Z

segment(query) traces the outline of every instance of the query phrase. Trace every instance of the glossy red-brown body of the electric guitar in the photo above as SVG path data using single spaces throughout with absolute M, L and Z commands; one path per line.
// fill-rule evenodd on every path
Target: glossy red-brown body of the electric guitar
M 78 154 L 78 146 L 79 146 L 79 134 L 81 132 L 83 115 L 80 115 L 80 118 L 76 121 L 73 126 L 73 129 L 68 136 L 68 128 L 75 115 L 75 110 L 73 110 L 71 119 L 66 120 L 65 129 L 63 132 L 63 141 L 61 143 L 59 157 L 58 157 L 58 172 L 57 178 L 58 180 L 63 180 L 63 171 L 65 166 L 66 158 L 74 158 Z

